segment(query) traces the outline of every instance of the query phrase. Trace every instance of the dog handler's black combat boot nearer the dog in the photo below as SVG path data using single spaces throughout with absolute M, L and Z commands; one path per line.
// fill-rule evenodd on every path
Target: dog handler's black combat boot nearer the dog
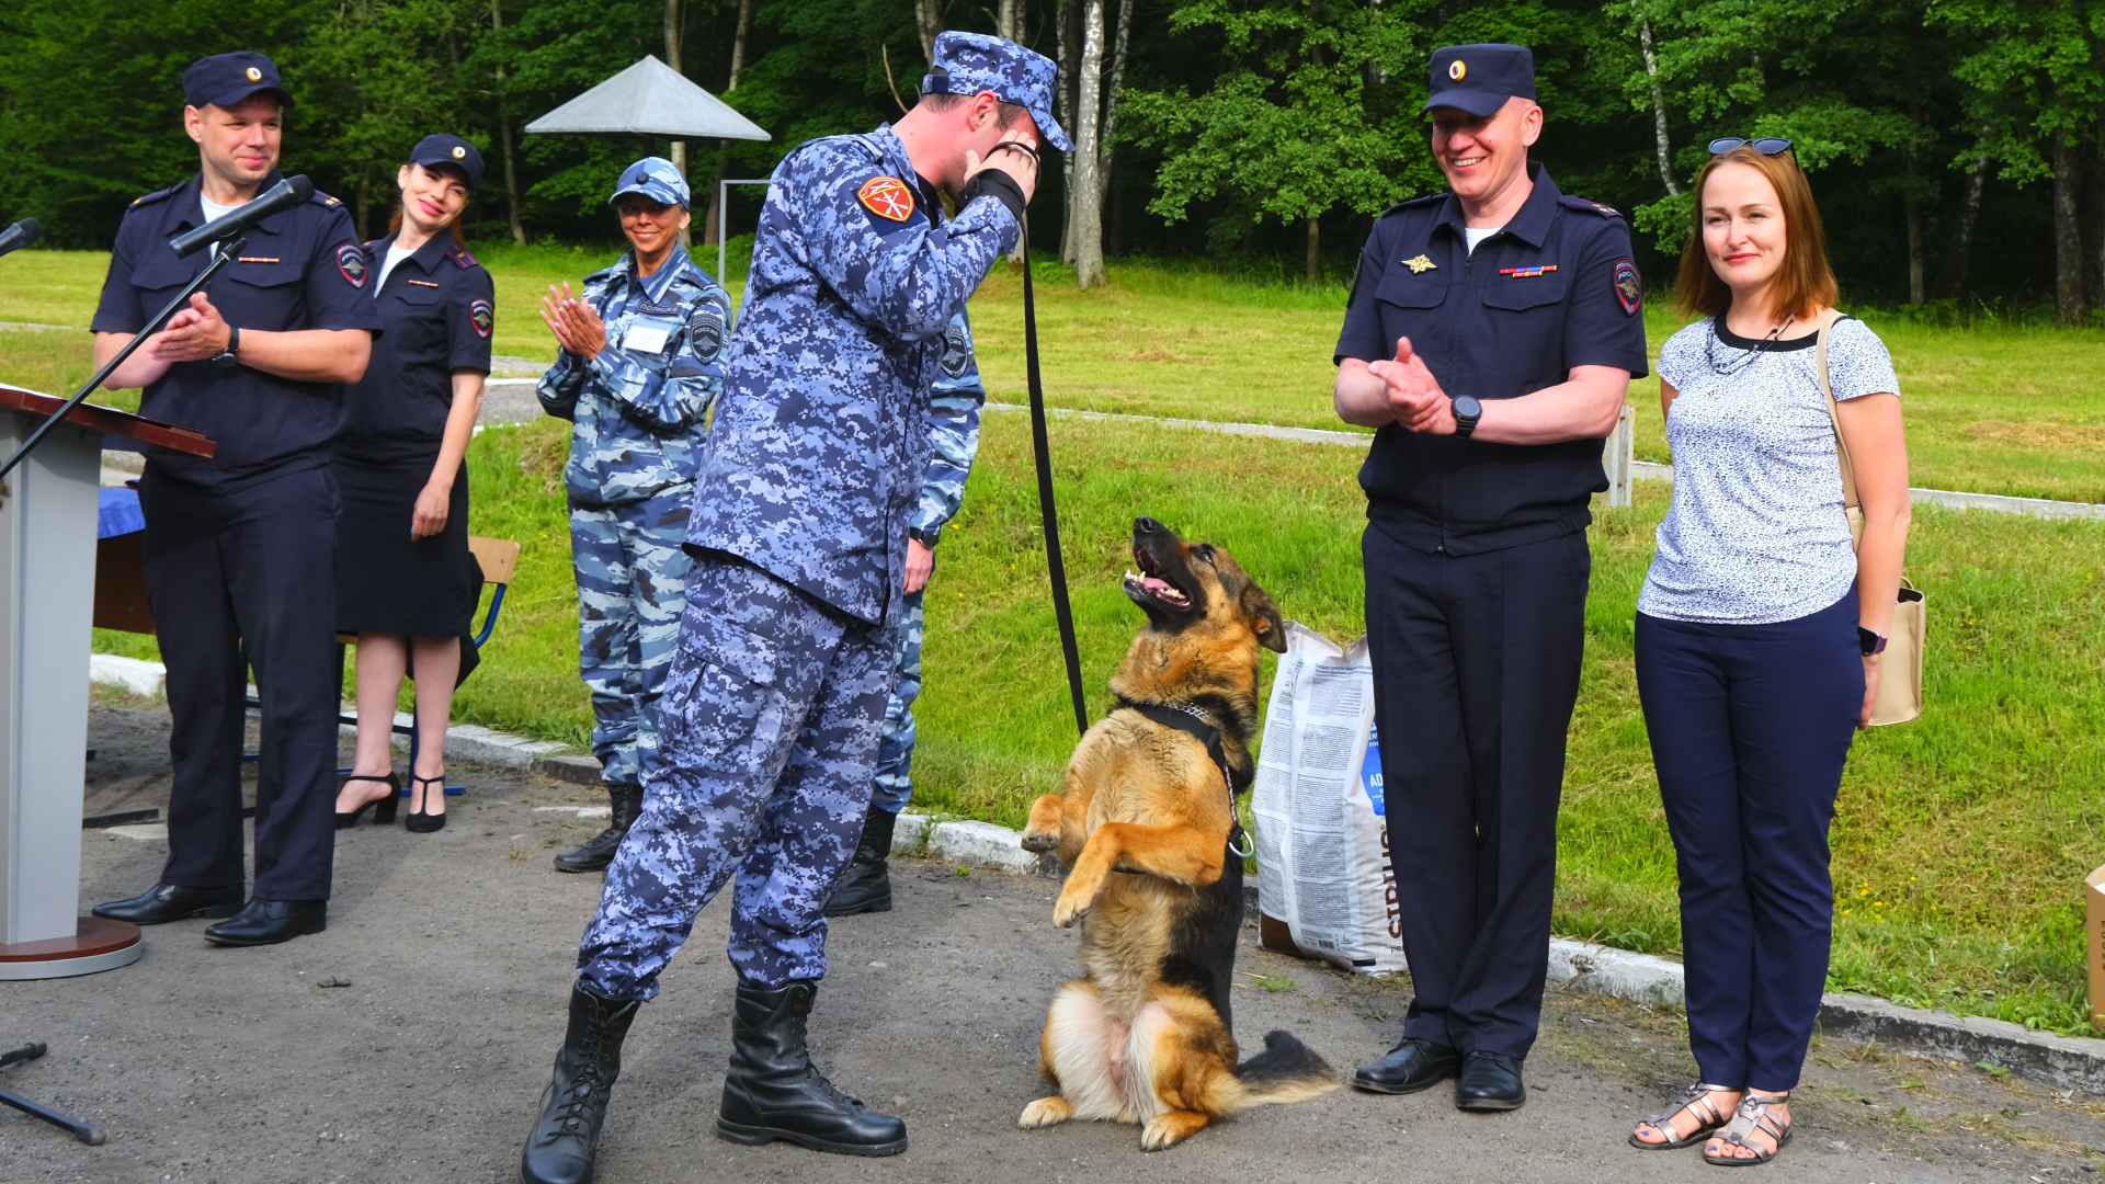
M 781 988 L 739 980 L 718 1138 L 743 1144 L 787 1140 L 834 1155 L 899 1155 L 907 1148 L 907 1125 L 890 1114 L 871 1114 L 813 1068 L 804 1049 L 804 1018 L 817 992 L 819 984 L 808 980 Z

